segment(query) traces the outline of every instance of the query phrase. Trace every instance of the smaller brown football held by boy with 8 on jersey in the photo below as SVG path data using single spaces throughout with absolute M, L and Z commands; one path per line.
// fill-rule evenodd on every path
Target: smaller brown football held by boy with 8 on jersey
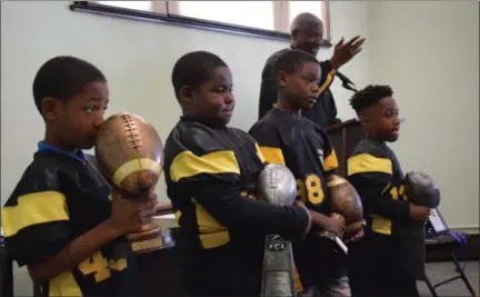
M 327 187 L 330 194 L 331 211 L 344 218 L 347 230 L 361 227 L 363 205 L 353 186 L 340 176 L 329 175 Z

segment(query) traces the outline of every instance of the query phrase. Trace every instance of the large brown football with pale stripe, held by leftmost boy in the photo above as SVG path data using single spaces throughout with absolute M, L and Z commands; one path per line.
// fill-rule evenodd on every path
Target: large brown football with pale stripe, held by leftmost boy
M 141 117 L 121 112 L 109 117 L 96 140 L 99 168 L 111 182 L 130 195 L 152 189 L 163 166 L 163 145 Z

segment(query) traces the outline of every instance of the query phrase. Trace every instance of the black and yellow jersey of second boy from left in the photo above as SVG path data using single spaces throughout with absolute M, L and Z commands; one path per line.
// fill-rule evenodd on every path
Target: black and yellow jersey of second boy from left
M 246 132 L 181 118 L 164 147 L 168 197 L 196 295 L 258 295 L 264 237 L 301 238 L 309 215 L 257 197 L 264 158 Z M 197 286 L 192 288 L 191 286 Z M 198 289 L 201 286 L 204 289 Z

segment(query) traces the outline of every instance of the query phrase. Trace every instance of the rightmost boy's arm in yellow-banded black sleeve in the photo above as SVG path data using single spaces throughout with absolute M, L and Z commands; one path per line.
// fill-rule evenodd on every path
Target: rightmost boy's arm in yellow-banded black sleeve
M 360 154 L 348 159 L 348 179 L 356 188 L 368 212 L 386 218 L 409 218 L 409 202 L 393 200 L 386 192 L 392 180 L 392 165 L 388 158 Z

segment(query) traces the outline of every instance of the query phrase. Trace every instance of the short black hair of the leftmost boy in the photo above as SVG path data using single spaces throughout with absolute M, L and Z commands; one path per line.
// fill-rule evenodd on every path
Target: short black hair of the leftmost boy
M 41 101 L 46 97 L 67 102 L 87 83 L 107 81 L 93 65 L 70 56 L 54 57 L 44 62 L 33 79 L 33 98 L 41 113 Z

